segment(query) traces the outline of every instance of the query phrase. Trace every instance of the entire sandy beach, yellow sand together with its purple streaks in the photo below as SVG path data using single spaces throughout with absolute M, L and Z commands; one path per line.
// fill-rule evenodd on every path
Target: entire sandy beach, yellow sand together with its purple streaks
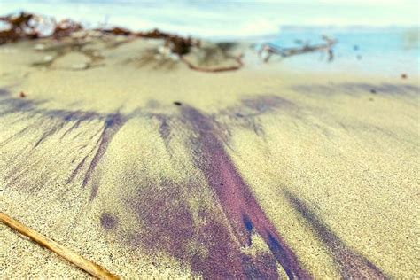
M 65 43 L 0 46 L 5 214 L 125 278 L 420 276 L 418 76 Z M 0 278 L 89 278 L 0 240 Z

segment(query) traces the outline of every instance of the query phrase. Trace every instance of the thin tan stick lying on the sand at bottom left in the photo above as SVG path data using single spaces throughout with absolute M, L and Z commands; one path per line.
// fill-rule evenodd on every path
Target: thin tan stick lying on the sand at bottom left
M 42 234 L 36 232 L 34 229 L 30 229 L 19 221 L 14 220 L 8 215 L 0 212 L 0 222 L 3 222 L 6 226 L 18 231 L 26 237 L 29 237 L 37 244 L 57 253 L 60 257 L 72 262 L 78 268 L 83 269 L 92 276 L 96 276 L 99 279 L 118 279 L 111 272 L 99 267 L 97 264 L 83 258 L 82 256 L 74 253 L 67 249 L 65 246 L 58 244 L 49 237 L 45 237 Z

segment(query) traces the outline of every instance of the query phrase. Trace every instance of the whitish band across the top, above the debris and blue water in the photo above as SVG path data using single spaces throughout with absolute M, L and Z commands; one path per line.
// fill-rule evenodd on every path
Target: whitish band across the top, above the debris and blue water
M 274 34 L 294 26 L 419 27 L 420 0 L 0 0 L 0 14 L 41 13 L 135 30 L 160 29 L 201 36 Z

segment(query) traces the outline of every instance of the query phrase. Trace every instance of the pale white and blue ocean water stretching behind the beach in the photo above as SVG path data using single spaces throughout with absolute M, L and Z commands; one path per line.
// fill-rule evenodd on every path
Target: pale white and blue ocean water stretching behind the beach
M 311 53 L 281 59 L 282 64 L 297 70 L 418 76 L 418 4 L 416 0 L 0 0 L 0 14 L 27 11 L 74 19 L 86 27 L 158 27 L 208 40 L 246 40 L 283 48 L 298 47 L 296 40 L 322 43 L 321 36 L 329 35 L 338 40 L 332 62 L 321 53 Z

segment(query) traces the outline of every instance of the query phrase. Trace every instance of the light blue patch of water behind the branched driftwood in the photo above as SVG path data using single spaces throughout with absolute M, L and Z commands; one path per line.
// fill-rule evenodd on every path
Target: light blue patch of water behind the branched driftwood
M 329 62 L 326 54 L 315 52 L 281 59 L 282 64 L 298 71 L 312 67 L 315 71 L 408 74 L 418 79 L 417 27 L 284 27 L 278 35 L 265 40 L 276 46 L 299 47 L 297 40 L 323 43 L 322 35 L 337 40 L 333 61 Z

